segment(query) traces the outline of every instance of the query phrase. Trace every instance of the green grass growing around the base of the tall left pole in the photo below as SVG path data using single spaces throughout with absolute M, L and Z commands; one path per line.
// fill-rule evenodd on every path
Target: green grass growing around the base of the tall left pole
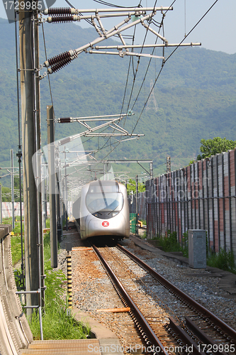
M 20 217 L 16 217 L 19 221 Z M 15 265 L 21 260 L 21 223 L 15 223 L 13 235 L 11 236 L 12 263 Z M 12 224 L 11 218 L 5 218 L 4 224 Z M 47 228 L 50 221 L 46 221 Z M 66 290 L 63 288 L 64 281 L 67 280 L 61 270 L 52 270 L 50 266 L 50 233 L 43 238 L 44 260 L 45 260 L 45 307 L 43 309 L 43 338 L 49 339 L 86 339 L 90 333 L 88 325 L 77 322 L 72 315 L 67 312 L 68 304 L 66 300 Z M 19 271 L 20 272 L 20 271 Z M 20 272 L 21 273 L 21 272 Z M 17 281 L 17 279 L 16 279 Z M 40 322 L 38 312 L 33 312 L 28 320 L 33 339 L 40 339 Z

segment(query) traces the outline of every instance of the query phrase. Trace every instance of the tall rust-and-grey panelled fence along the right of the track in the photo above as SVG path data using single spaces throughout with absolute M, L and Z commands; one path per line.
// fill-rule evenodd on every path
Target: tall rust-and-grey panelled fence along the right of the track
M 147 236 L 206 229 L 208 249 L 236 256 L 235 150 L 146 182 Z

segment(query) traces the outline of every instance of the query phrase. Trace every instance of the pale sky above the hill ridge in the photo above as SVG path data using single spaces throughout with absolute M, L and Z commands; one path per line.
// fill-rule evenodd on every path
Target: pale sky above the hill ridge
M 2 0 L 0 3 L 0 17 L 6 17 L 4 3 L 10 0 Z M 53 1 L 53 0 L 51 0 Z M 111 1 L 111 0 L 110 0 Z M 174 0 L 157 0 L 156 6 L 169 6 Z M 140 0 L 113 0 L 112 4 L 118 6 L 137 6 Z M 164 19 L 164 36 L 169 43 L 179 43 L 185 33 L 189 33 L 193 26 L 201 19 L 201 17 L 208 11 L 210 6 L 214 4 L 215 0 L 176 0 L 173 5 L 173 11 L 169 11 Z M 94 0 L 70 0 L 70 3 L 76 9 L 103 9 L 106 6 L 98 4 Z M 155 0 L 142 0 L 142 7 L 154 6 Z M 6 5 L 5 5 L 6 6 Z M 65 0 L 56 0 L 52 7 L 68 7 Z M 81 11 L 82 12 L 82 11 Z M 154 17 L 159 21 L 160 15 Z M 103 21 L 106 29 L 118 24 L 120 18 L 112 18 Z M 13 23 L 9 24 L 13 26 Z M 55 26 L 55 25 L 52 25 Z M 58 26 L 63 26 L 60 24 Z M 89 27 L 88 23 L 82 21 L 79 26 L 83 28 Z M 138 26 L 135 35 L 135 42 L 142 43 L 145 29 Z M 156 29 L 156 28 L 154 28 Z M 130 32 L 130 34 L 133 33 Z M 196 26 L 191 34 L 186 38 L 186 42 L 201 42 L 202 47 L 209 50 L 222 51 L 229 54 L 236 53 L 236 1 L 235 0 L 218 0 L 205 18 Z M 98 35 L 94 32 L 95 39 Z M 146 43 L 154 43 L 154 36 L 150 35 Z M 105 44 L 105 43 L 104 43 Z M 103 45 L 103 43 L 101 43 Z

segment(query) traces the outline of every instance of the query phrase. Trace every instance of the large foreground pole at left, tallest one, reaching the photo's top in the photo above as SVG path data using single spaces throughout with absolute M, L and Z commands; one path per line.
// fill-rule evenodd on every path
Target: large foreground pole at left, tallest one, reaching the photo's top
M 25 7 L 26 9 L 26 7 Z M 20 72 L 21 72 L 21 124 L 23 132 L 23 201 L 25 225 L 25 253 L 26 253 L 26 290 L 38 290 L 40 276 L 38 273 L 38 193 L 33 175 L 32 157 L 37 150 L 35 136 L 35 96 L 39 97 L 39 80 L 35 85 L 35 68 L 32 60 L 34 43 L 38 38 L 38 26 L 33 28 L 34 11 L 19 11 L 20 37 Z M 35 31 L 33 33 L 33 31 Z M 38 50 L 35 53 L 38 56 Z M 38 60 L 37 60 L 38 62 Z M 37 64 L 36 64 L 37 65 Z M 38 66 L 37 66 L 38 67 Z M 36 90 L 36 92 L 35 92 Z M 28 294 L 27 305 L 37 305 L 38 295 Z M 28 316 L 32 309 L 27 309 Z

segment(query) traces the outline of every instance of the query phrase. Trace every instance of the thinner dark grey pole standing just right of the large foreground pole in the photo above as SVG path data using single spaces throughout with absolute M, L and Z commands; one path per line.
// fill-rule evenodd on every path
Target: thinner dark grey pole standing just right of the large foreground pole
M 53 107 L 47 106 L 48 182 L 50 208 L 51 266 L 57 268 L 57 216 Z

